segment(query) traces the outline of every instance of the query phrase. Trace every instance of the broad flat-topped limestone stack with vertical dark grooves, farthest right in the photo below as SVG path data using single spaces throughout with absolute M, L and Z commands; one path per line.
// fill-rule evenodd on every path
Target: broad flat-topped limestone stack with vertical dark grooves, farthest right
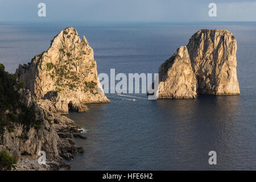
M 198 92 L 202 94 L 240 94 L 237 80 L 237 42 L 226 30 L 200 30 L 187 45 Z

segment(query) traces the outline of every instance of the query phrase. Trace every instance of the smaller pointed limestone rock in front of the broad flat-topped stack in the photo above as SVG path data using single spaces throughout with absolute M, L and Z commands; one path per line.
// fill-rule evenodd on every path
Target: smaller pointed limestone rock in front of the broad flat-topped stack
M 159 68 L 160 98 L 196 97 L 196 77 L 191 67 L 188 50 L 180 47 Z

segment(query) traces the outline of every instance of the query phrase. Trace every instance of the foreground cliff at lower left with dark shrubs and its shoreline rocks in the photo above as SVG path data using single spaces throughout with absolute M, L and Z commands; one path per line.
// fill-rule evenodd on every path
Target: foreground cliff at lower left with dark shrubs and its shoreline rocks
M 82 137 L 81 128 L 63 115 L 42 109 L 17 80 L 0 64 L 0 155 L 5 157 L 0 157 L 0 170 L 9 165 L 8 155 L 19 159 L 16 169 L 42 170 L 57 169 L 64 165 L 62 158 L 83 152 L 72 139 Z M 46 152 L 47 168 L 37 162 L 39 151 Z

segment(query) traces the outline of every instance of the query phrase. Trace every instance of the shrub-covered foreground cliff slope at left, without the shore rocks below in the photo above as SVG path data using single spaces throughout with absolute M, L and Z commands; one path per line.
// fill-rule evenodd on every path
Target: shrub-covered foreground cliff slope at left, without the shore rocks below
M 0 152 L 7 150 L 15 158 L 34 157 L 41 150 L 49 158 L 59 156 L 51 121 L 16 79 L 0 68 Z

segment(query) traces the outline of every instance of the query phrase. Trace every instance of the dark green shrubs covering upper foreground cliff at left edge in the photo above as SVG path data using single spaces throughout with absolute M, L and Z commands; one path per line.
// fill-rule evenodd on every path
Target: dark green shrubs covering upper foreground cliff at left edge
M 20 88 L 24 88 L 24 82 L 18 83 L 16 75 L 6 72 L 0 64 L 0 142 L 5 128 L 13 131 L 13 123 L 21 123 L 29 129 L 42 122 L 36 120 L 34 105 L 27 107 L 20 102 Z

